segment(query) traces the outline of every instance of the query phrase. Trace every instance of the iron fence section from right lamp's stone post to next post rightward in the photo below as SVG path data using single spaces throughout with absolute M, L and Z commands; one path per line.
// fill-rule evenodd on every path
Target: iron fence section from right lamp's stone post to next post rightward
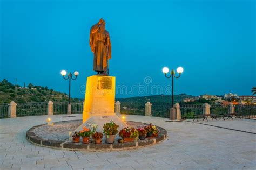
M 181 118 L 192 119 L 194 115 L 203 114 L 203 105 L 184 104 L 180 105 Z

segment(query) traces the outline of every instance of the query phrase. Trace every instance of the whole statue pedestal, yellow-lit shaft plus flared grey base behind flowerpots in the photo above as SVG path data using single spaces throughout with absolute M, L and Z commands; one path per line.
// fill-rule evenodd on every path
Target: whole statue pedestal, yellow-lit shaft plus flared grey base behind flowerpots
M 103 130 L 103 125 L 111 120 L 119 125 L 119 130 L 127 125 L 115 114 L 114 96 L 115 96 L 116 77 L 93 75 L 87 77 L 85 101 L 83 110 L 83 126 L 89 126 L 91 123 L 98 125 L 97 131 Z

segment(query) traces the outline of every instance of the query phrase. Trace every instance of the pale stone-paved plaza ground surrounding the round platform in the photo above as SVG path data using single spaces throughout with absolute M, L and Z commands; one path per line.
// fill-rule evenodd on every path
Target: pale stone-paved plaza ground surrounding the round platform
M 52 121 L 82 119 L 51 116 Z M 153 123 L 167 130 L 163 142 L 137 150 L 75 152 L 35 146 L 25 139 L 32 126 L 48 116 L 0 119 L 0 169 L 255 169 L 256 136 L 191 122 L 127 116 L 127 121 Z M 218 122 L 218 124 L 217 124 Z M 256 122 L 247 119 L 209 121 L 225 128 L 255 132 Z M 199 121 L 199 123 L 205 123 Z

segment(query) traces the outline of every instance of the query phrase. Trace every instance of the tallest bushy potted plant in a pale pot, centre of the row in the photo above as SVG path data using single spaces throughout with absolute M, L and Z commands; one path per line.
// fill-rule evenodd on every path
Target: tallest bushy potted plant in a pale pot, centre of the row
M 119 125 L 117 125 L 113 121 L 110 121 L 104 124 L 103 133 L 106 136 L 106 143 L 109 143 L 109 144 L 114 143 L 114 137 L 118 133 L 118 130 L 117 130 L 118 127 Z

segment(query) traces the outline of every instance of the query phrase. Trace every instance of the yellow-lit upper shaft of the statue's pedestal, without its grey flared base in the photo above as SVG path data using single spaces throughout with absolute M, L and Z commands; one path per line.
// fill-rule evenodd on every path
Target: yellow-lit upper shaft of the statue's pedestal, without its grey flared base
M 92 116 L 114 116 L 116 77 L 87 77 L 83 123 Z

